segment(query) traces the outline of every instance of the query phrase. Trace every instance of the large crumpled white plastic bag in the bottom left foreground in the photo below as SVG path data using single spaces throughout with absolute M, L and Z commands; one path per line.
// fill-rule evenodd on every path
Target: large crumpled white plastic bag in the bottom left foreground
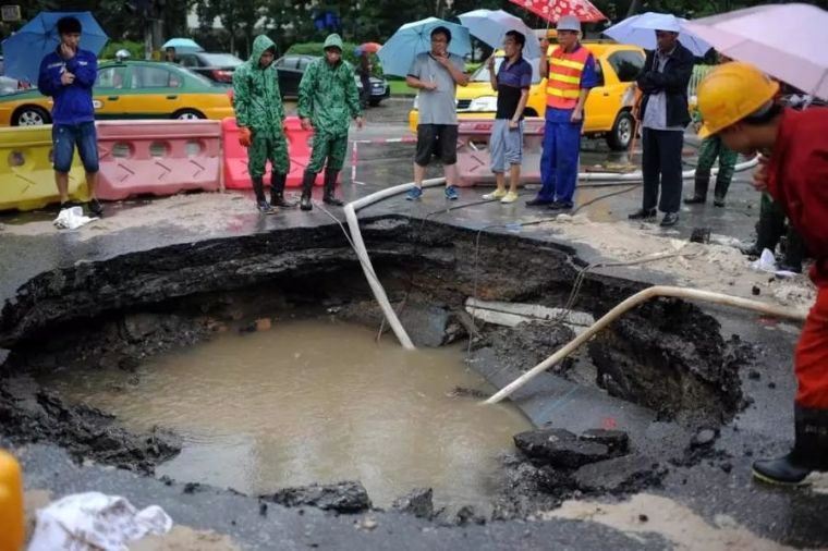
M 158 505 L 138 511 L 118 495 L 75 493 L 37 512 L 28 551 L 127 551 L 127 542 L 171 529 L 172 519 Z

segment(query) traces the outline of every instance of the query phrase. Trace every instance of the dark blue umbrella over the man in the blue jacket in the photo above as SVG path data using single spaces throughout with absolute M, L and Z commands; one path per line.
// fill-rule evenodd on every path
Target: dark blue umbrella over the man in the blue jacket
M 60 45 L 58 20 L 66 16 L 81 22 L 81 48 L 96 56 L 100 53 L 109 37 L 100 28 L 89 12 L 40 12 L 23 25 L 14 35 L 3 40 L 5 75 L 28 83 L 36 83 L 40 72 L 40 61 L 57 50 Z

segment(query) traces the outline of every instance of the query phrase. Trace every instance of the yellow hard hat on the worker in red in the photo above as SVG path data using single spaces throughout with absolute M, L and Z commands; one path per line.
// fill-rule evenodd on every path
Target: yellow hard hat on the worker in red
M 739 61 L 714 69 L 698 85 L 698 110 L 704 125 L 698 137 L 716 134 L 758 111 L 774 99 L 779 83 Z

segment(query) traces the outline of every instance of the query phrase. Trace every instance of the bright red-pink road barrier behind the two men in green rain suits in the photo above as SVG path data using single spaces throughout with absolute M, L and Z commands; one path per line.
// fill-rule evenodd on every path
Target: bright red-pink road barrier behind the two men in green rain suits
M 288 156 L 290 157 L 290 171 L 288 172 L 288 187 L 300 187 L 304 177 L 305 167 L 310 162 L 310 147 L 314 131 L 302 128 L 297 117 L 288 117 L 284 120 L 284 136 L 288 139 Z M 253 187 L 251 175 L 247 173 L 247 149 L 239 144 L 239 126 L 235 119 L 224 119 L 221 122 L 221 132 L 224 143 L 224 185 L 228 189 L 249 189 Z M 265 171 L 265 183 L 270 182 L 270 163 Z M 316 185 L 322 185 L 321 173 L 316 175 Z

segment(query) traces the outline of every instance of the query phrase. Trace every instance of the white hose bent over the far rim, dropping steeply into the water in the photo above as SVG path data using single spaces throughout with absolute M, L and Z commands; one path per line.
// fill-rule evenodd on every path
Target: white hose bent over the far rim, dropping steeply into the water
M 424 181 L 423 187 L 434 187 L 443 183 L 446 183 L 445 177 L 435 177 Z M 368 250 L 365 248 L 365 242 L 363 242 L 362 233 L 360 232 L 360 221 L 356 219 L 356 211 L 363 207 L 373 205 L 374 203 L 387 199 L 388 197 L 405 193 L 412 187 L 414 187 L 414 182 L 395 185 L 393 187 L 366 195 L 365 197 L 361 197 L 349 203 L 344 207 L 345 220 L 348 221 L 348 228 L 351 231 L 351 238 L 354 242 L 354 250 L 360 257 L 360 264 L 362 265 L 363 271 L 365 272 L 365 279 L 368 280 L 368 285 L 370 285 L 370 290 L 374 292 L 374 297 L 377 299 L 377 303 L 379 303 L 379 307 L 382 309 L 382 314 L 385 314 L 386 319 L 388 320 L 388 325 L 391 326 L 391 329 L 397 335 L 397 340 L 400 341 L 400 344 L 402 344 L 403 348 L 410 351 L 415 348 L 414 343 L 411 342 L 409 333 L 405 332 L 405 328 L 403 328 L 402 323 L 400 323 L 400 319 L 397 317 L 397 313 L 391 307 L 391 303 L 388 302 L 386 291 L 382 289 L 382 285 L 379 283 L 379 278 L 377 278 L 377 274 L 374 271 L 374 265 L 370 264 Z

